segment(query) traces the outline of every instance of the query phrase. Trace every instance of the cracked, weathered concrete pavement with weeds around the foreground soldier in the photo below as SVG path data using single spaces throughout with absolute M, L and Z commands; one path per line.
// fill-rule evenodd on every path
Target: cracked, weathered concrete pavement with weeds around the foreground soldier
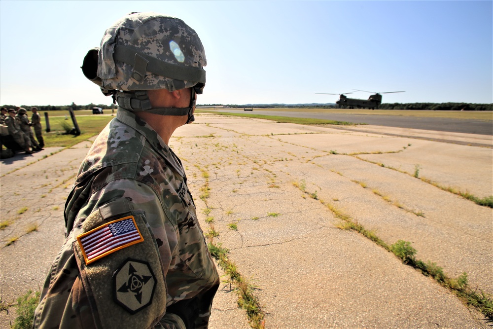
M 491 140 L 439 134 L 443 141 L 471 145 Z M 419 160 L 420 175 L 488 196 L 491 148 L 421 137 L 412 129 L 313 127 L 198 113 L 196 123 L 176 130 L 170 146 L 185 166 L 202 228 L 210 228 L 211 216 L 219 233 L 214 241 L 230 250 L 238 272 L 256 287 L 266 328 L 486 328 L 484 316 L 432 279 L 363 236 L 336 228 L 340 219 L 326 206 L 374 229 L 388 244 L 411 241 L 419 259 L 436 262 L 453 277 L 466 271 L 471 285 L 492 291 L 492 209 L 412 177 Z M 1 178 L 1 220 L 13 220 L 1 231 L 2 301 L 42 286 L 63 242 L 65 198 L 88 145 Z M 356 157 L 331 150 L 399 152 Z M 464 170 L 470 167 L 475 169 Z M 2 162 L 2 175 L 9 168 Z M 200 199 L 206 183 L 207 206 Z M 18 214 L 28 201 L 28 210 Z M 22 234 L 33 222 L 37 231 Z M 221 283 L 210 328 L 248 328 L 232 288 Z M 15 313 L 1 314 L 0 327 L 8 328 Z

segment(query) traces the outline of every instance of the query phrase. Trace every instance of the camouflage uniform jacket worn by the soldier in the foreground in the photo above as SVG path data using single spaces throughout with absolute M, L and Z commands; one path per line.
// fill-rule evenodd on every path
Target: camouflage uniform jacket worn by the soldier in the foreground
M 143 241 L 88 261 L 77 237 L 122 219 Z M 65 220 L 34 328 L 207 328 L 219 277 L 181 161 L 131 111 L 118 108 L 89 150 Z

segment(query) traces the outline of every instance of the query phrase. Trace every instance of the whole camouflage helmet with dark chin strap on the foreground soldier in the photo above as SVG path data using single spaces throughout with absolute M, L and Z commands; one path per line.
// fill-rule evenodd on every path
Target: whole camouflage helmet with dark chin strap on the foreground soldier
M 196 94 L 202 94 L 207 65 L 204 47 L 182 20 L 154 12 L 130 13 L 105 32 L 101 47 L 84 58 L 82 72 L 111 95 L 120 108 L 161 115 L 188 115 L 193 121 Z M 189 90 L 184 90 L 190 88 Z M 158 90 L 181 90 L 184 107 L 151 104 Z

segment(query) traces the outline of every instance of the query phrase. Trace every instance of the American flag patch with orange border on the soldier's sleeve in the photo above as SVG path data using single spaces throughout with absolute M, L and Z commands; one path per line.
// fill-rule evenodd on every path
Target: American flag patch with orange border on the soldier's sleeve
M 77 236 L 86 264 L 144 241 L 133 216 L 110 221 Z

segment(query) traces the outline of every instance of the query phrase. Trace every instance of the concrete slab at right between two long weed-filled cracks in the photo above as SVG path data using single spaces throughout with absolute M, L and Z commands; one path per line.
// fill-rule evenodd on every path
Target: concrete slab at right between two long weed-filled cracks
M 313 176 L 306 181 L 316 183 L 307 189 L 387 244 L 410 241 L 418 259 L 436 262 L 452 277 L 465 271 L 472 286 L 493 292 L 491 208 L 354 157 L 330 155 L 313 163 L 317 168 L 309 169 Z

